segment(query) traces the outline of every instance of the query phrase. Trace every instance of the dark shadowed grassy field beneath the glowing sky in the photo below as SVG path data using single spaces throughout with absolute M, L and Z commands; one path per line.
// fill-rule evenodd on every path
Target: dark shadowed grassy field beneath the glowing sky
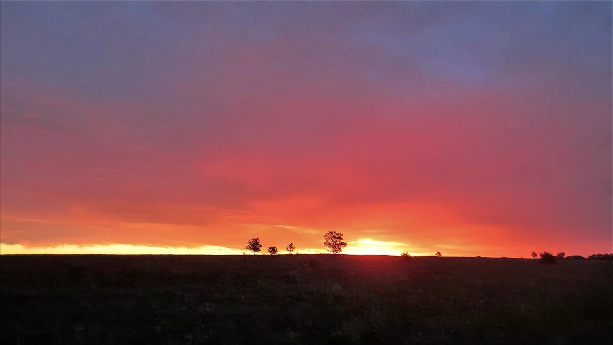
M 0 257 L 8 344 L 613 344 L 613 263 Z

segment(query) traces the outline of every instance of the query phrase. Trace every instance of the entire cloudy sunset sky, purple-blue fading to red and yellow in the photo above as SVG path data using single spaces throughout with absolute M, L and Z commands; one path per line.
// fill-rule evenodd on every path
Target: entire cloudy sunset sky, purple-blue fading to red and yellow
M 1 254 L 613 251 L 611 2 L 0 12 Z

